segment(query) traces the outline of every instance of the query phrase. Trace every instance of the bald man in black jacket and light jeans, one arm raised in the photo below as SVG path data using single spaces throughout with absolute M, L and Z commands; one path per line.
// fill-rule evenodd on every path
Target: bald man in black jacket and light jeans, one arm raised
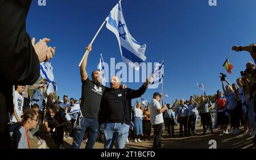
M 106 88 L 102 95 L 99 113 L 100 122 L 105 123 L 105 149 L 112 149 L 114 144 L 116 149 L 125 148 L 131 124 L 131 99 L 142 96 L 152 80 L 150 77 L 138 90 L 131 90 L 120 88 L 117 76 L 110 79 L 110 89 Z

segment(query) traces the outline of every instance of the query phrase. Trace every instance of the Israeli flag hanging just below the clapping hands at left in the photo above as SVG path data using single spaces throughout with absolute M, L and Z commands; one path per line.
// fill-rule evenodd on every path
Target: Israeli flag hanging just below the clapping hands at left
M 53 67 L 49 62 L 42 62 L 40 64 L 40 79 L 47 79 L 48 82 L 52 82 L 54 79 L 53 76 Z

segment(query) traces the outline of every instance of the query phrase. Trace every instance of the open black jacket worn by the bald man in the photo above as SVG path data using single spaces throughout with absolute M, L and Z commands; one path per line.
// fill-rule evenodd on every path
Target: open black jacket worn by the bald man
M 121 94 L 122 94 L 122 98 L 123 98 L 123 123 L 130 125 L 131 124 L 131 109 L 132 109 L 132 105 L 131 105 L 131 99 L 134 98 L 138 98 L 140 96 L 142 96 L 144 94 L 144 92 L 146 91 L 146 87 L 144 87 L 143 85 L 138 89 L 138 90 L 132 90 L 132 89 L 120 89 L 121 90 Z M 99 121 L 100 124 L 105 123 L 107 119 L 106 116 L 106 110 L 108 110 L 108 106 L 106 106 L 105 100 L 106 100 L 106 95 L 108 94 L 108 92 L 111 89 L 107 88 L 105 89 L 105 91 L 102 94 L 102 99 L 101 99 L 101 108 L 100 108 L 100 112 L 99 112 Z

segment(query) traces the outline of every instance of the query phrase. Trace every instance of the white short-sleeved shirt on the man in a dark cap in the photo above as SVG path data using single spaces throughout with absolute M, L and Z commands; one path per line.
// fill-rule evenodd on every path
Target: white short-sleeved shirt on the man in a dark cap
M 152 99 L 150 103 L 150 121 L 152 125 L 163 123 L 163 113 L 158 113 L 156 110 L 160 109 L 161 105 L 156 99 Z

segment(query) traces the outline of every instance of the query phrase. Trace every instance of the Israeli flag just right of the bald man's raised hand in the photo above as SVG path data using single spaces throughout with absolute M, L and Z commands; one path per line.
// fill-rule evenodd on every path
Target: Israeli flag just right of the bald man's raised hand
M 154 78 L 154 81 L 148 85 L 149 89 L 156 89 L 159 84 L 163 83 L 163 77 L 164 77 L 164 61 L 162 64 L 157 64 L 155 66 L 154 71 L 152 72 L 152 76 Z

